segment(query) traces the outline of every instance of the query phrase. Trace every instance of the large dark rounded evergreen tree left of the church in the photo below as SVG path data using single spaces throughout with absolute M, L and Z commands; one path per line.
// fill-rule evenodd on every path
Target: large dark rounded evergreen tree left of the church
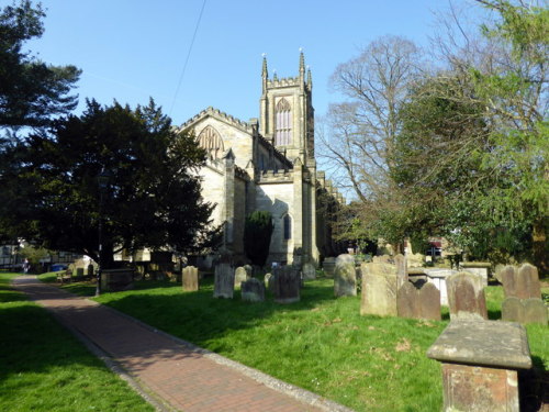
M 154 101 L 131 110 L 88 102 L 81 116 L 58 120 L 3 158 L 0 226 L 49 249 L 99 257 L 143 247 L 190 252 L 215 242 L 213 205 L 200 194 L 204 152 L 176 134 Z M 101 191 L 98 176 L 110 174 Z

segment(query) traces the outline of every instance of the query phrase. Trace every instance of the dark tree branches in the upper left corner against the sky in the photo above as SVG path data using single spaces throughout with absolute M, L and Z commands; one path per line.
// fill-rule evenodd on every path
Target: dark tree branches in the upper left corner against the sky
M 0 9 L 0 127 L 43 127 L 78 103 L 69 92 L 80 70 L 47 65 L 23 49 L 44 33 L 44 16 L 30 0 Z

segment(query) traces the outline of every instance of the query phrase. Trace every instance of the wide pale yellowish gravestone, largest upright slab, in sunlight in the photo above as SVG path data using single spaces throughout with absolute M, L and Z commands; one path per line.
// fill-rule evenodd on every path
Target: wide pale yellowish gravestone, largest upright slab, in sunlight
M 360 314 L 396 316 L 396 266 L 373 261 L 360 266 L 362 297 Z

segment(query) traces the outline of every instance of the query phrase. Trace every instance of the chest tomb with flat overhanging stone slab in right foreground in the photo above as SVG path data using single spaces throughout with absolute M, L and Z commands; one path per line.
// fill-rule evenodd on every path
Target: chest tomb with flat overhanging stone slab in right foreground
M 450 322 L 427 350 L 441 363 L 442 411 L 518 412 L 518 369 L 531 368 L 524 326 L 511 322 Z

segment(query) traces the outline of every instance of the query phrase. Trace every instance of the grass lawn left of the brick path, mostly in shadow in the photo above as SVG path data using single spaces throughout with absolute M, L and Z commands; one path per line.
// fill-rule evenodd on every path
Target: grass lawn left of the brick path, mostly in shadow
M 0 274 L 0 411 L 154 411 Z

